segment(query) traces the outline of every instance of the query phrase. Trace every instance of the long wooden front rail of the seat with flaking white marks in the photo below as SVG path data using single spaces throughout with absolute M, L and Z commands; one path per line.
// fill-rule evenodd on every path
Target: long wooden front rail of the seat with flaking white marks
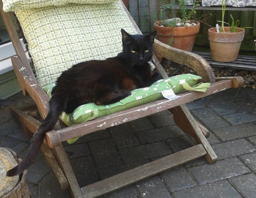
M 183 105 L 185 103 L 188 103 L 189 101 L 197 100 L 199 98 L 206 97 L 207 95 L 211 95 L 212 93 L 217 93 L 232 87 L 232 79 L 218 81 L 213 83 L 205 93 L 184 92 L 178 95 L 180 96 L 179 98 L 175 98 L 173 100 L 157 100 L 151 103 L 147 103 L 145 105 L 110 114 L 108 116 L 99 117 L 98 119 L 95 119 L 93 121 L 72 125 L 70 127 L 66 127 L 65 129 L 60 129 L 57 131 L 53 130 L 46 133 L 46 137 L 48 140 L 47 144 L 50 148 L 54 148 L 54 146 L 59 145 L 59 141 L 56 140 L 55 135 L 52 136 L 52 133 L 57 133 L 59 135 L 59 140 L 65 141 L 71 138 L 80 137 L 81 135 L 95 132 L 97 130 L 103 130 L 109 127 L 113 127 L 115 125 L 123 124 L 125 122 L 130 122 L 134 119 L 138 119 L 139 117 L 145 117 L 153 113 L 159 113 L 160 111 Z

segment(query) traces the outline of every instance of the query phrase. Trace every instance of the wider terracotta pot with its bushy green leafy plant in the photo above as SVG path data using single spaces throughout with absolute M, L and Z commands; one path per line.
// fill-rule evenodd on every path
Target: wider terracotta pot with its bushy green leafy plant
M 157 30 L 157 39 L 169 46 L 191 52 L 194 46 L 196 34 L 199 32 L 200 23 L 192 20 L 196 14 L 194 1 L 192 8 L 186 10 L 186 0 L 178 0 L 179 7 L 175 14 L 181 14 L 181 18 L 168 18 L 154 23 L 154 30 Z M 164 10 L 172 9 L 173 4 L 165 6 Z

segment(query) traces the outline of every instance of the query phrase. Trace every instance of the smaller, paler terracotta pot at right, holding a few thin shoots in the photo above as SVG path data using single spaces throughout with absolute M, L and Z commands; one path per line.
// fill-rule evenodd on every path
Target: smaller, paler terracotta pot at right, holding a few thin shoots
M 237 58 L 241 42 L 244 40 L 244 29 L 236 28 L 236 33 L 229 33 L 229 27 L 224 27 L 225 33 L 217 33 L 216 28 L 208 30 L 212 60 L 230 62 Z

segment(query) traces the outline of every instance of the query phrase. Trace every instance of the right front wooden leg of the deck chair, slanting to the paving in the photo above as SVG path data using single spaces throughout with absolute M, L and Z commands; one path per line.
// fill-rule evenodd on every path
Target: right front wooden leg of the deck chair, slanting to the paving
M 207 152 L 205 159 L 207 162 L 212 163 L 217 160 L 217 155 L 210 146 L 209 142 L 204 136 L 204 133 L 200 130 L 198 122 L 192 117 L 186 105 L 177 106 L 175 108 L 169 109 L 173 114 L 173 120 L 175 124 L 178 125 L 185 133 L 188 133 L 197 144 L 202 144 Z M 206 129 L 206 128 L 205 128 Z

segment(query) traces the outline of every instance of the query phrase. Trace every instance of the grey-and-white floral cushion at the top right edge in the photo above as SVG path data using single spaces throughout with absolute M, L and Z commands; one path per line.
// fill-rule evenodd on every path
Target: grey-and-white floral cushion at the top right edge
M 202 6 L 221 6 L 222 0 L 202 0 Z M 226 6 L 233 7 L 246 7 L 246 6 L 256 6 L 256 0 L 227 0 Z

